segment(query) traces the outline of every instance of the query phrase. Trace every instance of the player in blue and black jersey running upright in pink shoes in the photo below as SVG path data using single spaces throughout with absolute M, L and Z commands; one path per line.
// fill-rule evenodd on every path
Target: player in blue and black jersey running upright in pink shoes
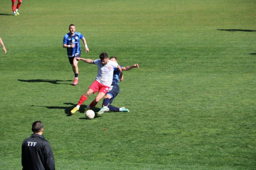
M 84 36 L 81 33 L 75 31 L 76 26 L 71 24 L 69 26 L 69 33 L 67 33 L 63 38 L 63 48 L 67 48 L 68 60 L 69 63 L 72 65 L 73 72 L 75 74 L 75 80 L 73 85 L 77 85 L 78 83 L 78 60 L 76 60 L 76 57 L 80 57 L 81 55 L 80 39 L 82 39 L 84 42 L 85 52 L 89 52 L 89 48 L 86 44 Z

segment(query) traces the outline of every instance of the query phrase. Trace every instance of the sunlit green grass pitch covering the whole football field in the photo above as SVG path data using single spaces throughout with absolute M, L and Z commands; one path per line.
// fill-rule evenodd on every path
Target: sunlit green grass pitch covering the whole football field
M 21 169 L 21 144 L 44 123 L 56 169 L 254 169 L 255 1 L 36 1 L 0 6 L 0 169 Z M 68 25 L 90 52 L 117 56 L 114 106 L 92 120 L 70 110 L 97 74 L 62 48 Z M 81 41 L 82 42 L 82 41 Z M 101 102 L 93 108 L 99 110 Z M 107 130 L 104 130 L 107 129 Z

